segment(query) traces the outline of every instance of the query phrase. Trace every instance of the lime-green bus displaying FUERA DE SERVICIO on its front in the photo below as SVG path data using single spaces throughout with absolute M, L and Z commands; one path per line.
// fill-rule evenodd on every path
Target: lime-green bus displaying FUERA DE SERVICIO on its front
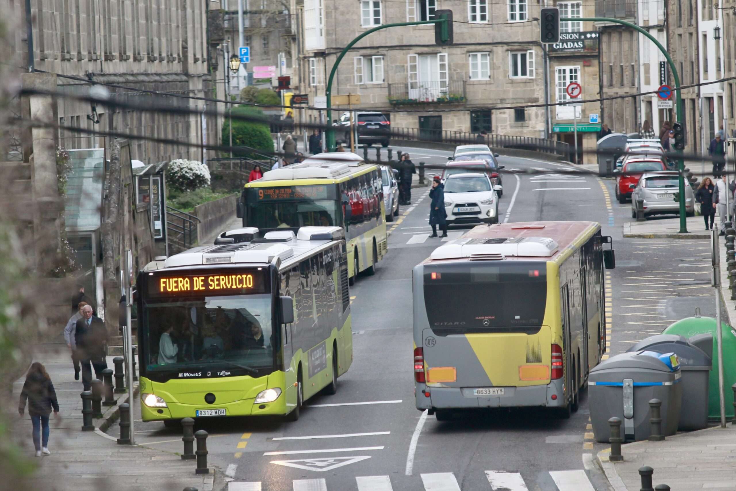
M 341 227 L 231 230 L 138 275 L 141 417 L 283 415 L 353 361 Z

